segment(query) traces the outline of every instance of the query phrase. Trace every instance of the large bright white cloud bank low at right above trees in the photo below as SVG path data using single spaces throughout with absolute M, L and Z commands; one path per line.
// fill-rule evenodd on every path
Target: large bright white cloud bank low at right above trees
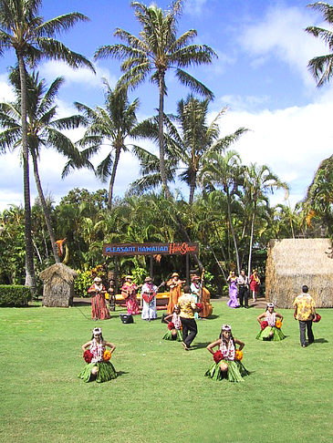
M 328 91 L 330 97 L 333 93 Z M 319 163 L 332 154 L 333 100 L 320 98 L 304 107 L 265 109 L 260 112 L 229 110 L 221 120 L 222 134 L 239 127 L 250 129 L 237 141 L 245 164 L 268 165 L 290 186 L 290 201 L 304 198 Z M 283 202 L 283 194 L 280 194 Z M 276 198 L 274 199 L 276 202 Z

